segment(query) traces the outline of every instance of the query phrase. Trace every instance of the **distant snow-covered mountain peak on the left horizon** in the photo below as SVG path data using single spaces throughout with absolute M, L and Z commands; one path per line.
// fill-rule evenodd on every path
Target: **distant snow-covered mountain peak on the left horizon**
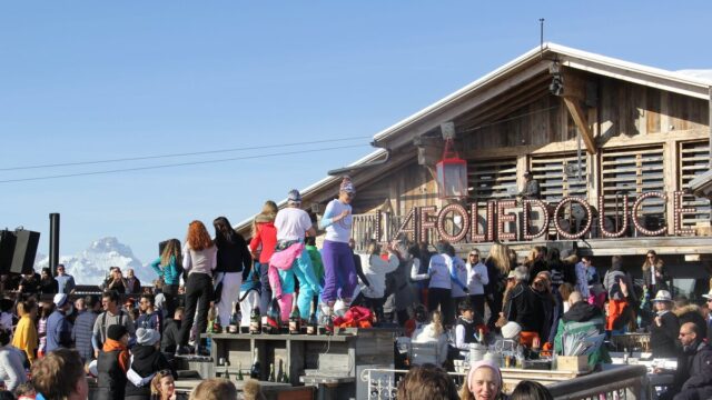
M 37 254 L 34 270 L 49 266 L 49 257 Z M 119 242 L 117 238 L 102 238 L 93 241 L 88 249 L 75 256 L 60 256 L 59 262 L 67 268 L 78 284 L 99 284 L 110 267 L 119 267 L 122 271 L 132 268 L 141 284 L 150 284 L 156 274 L 148 266 L 144 266 L 131 248 Z

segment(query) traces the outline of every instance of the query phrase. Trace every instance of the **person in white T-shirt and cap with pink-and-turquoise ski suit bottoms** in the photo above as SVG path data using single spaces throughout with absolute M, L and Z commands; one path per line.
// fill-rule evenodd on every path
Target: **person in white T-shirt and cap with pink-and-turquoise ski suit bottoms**
M 315 294 L 319 292 L 319 283 L 314 274 L 312 259 L 306 251 L 304 238 L 306 236 L 316 236 L 316 230 L 312 226 L 309 214 L 301 210 L 301 194 L 293 189 L 287 194 L 287 207 L 279 210 L 275 217 L 275 228 L 277 229 L 277 248 L 271 256 L 270 264 L 270 282 L 279 282 L 276 276 L 276 267 L 280 270 L 291 270 L 299 280 L 299 298 L 297 304 L 299 314 L 303 320 L 309 318 L 310 302 Z M 276 260 L 280 260 L 276 262 Z M 275 290 L 275 289 L 273 289 Z M 283 319 L 288 319 L 291 301 L 289 296 L 279 299 Z M 286 307 L 286 310 L 285 310 Z M 285 318 L 286 317 L 286 318 Z

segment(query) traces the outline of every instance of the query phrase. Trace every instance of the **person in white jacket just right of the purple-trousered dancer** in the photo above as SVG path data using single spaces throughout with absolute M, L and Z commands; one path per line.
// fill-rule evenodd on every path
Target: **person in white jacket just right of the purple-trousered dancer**
M 398 257 L 388 244 L 388 261 L 380 258 L 380 246 L 375 240 L 368 243 L 365 254 L 359 254 L 364 274 L 368 279 L 368 286 L 359 282 L 360 294 L 364 297 L 366 307 L 374 310 L 376 318 L 383 320 L 383 303 L 386 301 L 386 273 L 398 268 Z

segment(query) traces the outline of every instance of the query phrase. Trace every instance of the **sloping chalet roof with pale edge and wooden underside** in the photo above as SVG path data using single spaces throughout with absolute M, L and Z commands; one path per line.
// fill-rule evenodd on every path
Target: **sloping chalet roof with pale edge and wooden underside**
M 657 88 L 698 99 L 710 99 L 712 81 L 678 72 L 646 67 L 610 57 L 594 54 L 555 43 L 544 43 L 507 62 L 456 92 L 436 101 L 411 117 L 384 129 L 374 136 L 379 146 L 392 149 L 390 160 L 373 168 L 350 173 L 356 186 L 366 183 L 383 173 L 416 157 L 414 151 L 398 151 L 413 146 L 413 139 L 433 132 L 441 123 L 455 121 L 465 129 L 487 121 L 496 121 L 512 111 L 548 94 L 550 68 L 556 62 L 561 67 L 636 84 Z M 353 162 L 349 167 L 372 163 L 384 157 L 378 149 Z M 337 167 L 337 166 L 334 166 Z M 304 206 L 323 202 L 337 192 L 340 177 L 326 177 L 301 190 Z M 285 188 L 285 191 L 287 188 Z M 281 208 L 286 203 L 279 203 Z M 254 216 L 239 222 L 238 231 L 246 232 Z

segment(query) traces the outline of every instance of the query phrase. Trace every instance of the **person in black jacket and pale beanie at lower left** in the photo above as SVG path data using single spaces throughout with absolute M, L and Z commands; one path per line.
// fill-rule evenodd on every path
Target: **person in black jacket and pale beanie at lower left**
M 126 400 L 150 400 L 151 380 L 156 372 L 171 367 L 160 352 L 160 333 L 154 329 L 136 330 L 137 344 L 131 348 L 131 364 L 127 371 Z M 176 371 L 171 371 L 176 376 Z

